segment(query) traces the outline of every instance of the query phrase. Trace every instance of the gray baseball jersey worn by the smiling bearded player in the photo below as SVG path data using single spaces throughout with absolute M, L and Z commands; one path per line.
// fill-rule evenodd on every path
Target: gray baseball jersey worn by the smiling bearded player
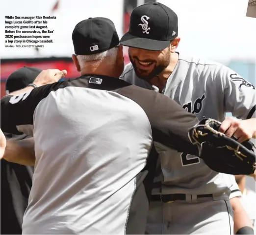
M 131 63 L 125 66 L 120 78 L 158 91 L 156 86 L 136 76 Z M 205 116 L 222 122 L 226 112 L 240 119 L 255 117 L 255 86 L 222 64 L 179 55 L 162 93 L 199 120 Z M 162 147 L 159 143 L 155 145 Z M 158 152 L 163 174 L 155 181 L 163 181 L 162 193 L 212 193 L 215 199 L 227 199 L 230 192 L 230 198 L 241 195 L 232 175 L 211 171 L 202 159 L 187 154 L 185 149 L 181 154 L 167 148 Z M 154 189 L 153 194 L 159 190 Z

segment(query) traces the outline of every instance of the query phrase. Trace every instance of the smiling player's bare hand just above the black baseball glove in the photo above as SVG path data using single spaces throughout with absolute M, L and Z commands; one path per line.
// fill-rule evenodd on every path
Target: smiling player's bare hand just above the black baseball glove
M 256 119 L 239 120 L 233 117 L 227 117 L 221 124 L 219 131 L 225 133 L 228 137 L 234 135 L 238 142 L 250 140 L 256 136 Z

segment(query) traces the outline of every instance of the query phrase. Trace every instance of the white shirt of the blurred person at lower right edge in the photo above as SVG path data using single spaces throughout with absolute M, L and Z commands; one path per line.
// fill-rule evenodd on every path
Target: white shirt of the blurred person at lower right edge
M 249 218 L 251 219 L 254 226 L 254 231 L 256 233 L 256 192 L 250 189 L 246 189 L 241 197 L 241 203 Z

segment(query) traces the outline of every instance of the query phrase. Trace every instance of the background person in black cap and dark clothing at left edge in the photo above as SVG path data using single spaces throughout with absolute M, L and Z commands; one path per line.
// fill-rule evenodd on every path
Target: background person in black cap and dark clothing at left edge
M 14 71 L 6 81 L 6 94 L 26 87 L 34 82 L 41 69 L 22 67 Z M 22 140 L 26 134 L 5 133 L 7 139 Z M 1 209 L 8 212 L 1 216 L 1 234 L 22 234 L 23 215 L 28 195 L 32 186 L 32 166 L 22 166 L 8 161 L 1 161 Z M 12 221 L 11 226 L 9 221 Z

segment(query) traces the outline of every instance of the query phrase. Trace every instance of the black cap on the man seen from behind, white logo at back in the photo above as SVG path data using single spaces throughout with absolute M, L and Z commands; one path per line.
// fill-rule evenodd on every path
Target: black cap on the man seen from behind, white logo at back
M 102 17 L 77 23 L 72 40 L 77 55 L 101 53 L 120 43 L 114 23 Z

